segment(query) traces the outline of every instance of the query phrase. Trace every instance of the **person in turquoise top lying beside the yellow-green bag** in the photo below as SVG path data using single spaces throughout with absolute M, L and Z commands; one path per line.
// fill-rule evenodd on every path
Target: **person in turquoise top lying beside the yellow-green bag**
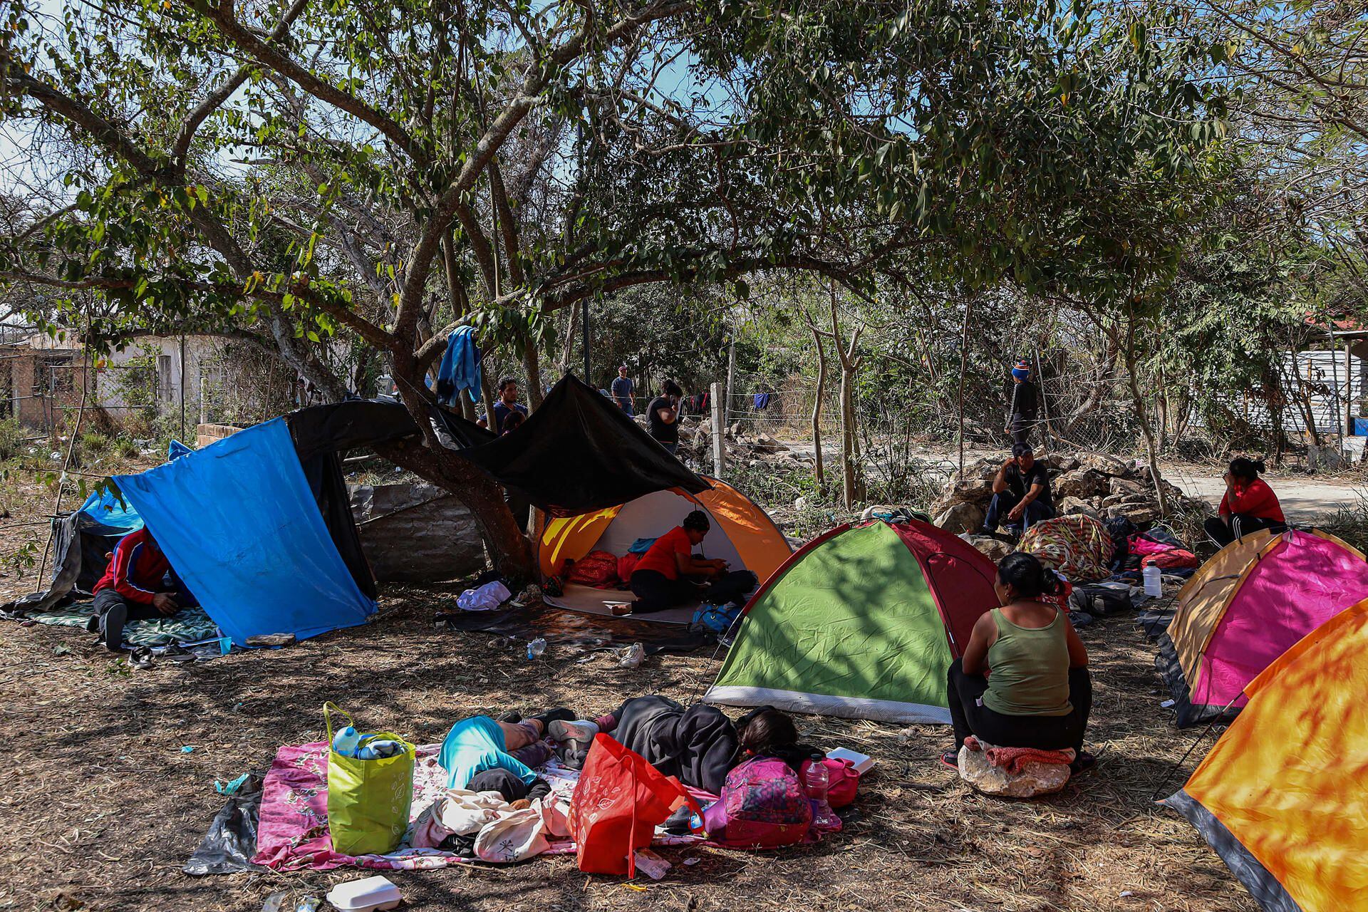
M 451 726 L 438 763 L 447 773 L 446 788 L 471 792 L 498 792 L 514 809 L 525 808 L 551 792 L 534 767 L 551 759 L 547 726 L 557 719 L 573 719 L 565 708 L 524 719 L 509 712 L 498 719 L 472 715 Z

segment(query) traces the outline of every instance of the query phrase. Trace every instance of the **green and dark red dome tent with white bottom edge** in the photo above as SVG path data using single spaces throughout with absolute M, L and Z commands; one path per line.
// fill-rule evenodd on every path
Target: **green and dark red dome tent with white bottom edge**
M 945 671 L 997 606 L 996 567 L 928 522 L 843 525 L 750 604 L 707 703 L 949 723 Z

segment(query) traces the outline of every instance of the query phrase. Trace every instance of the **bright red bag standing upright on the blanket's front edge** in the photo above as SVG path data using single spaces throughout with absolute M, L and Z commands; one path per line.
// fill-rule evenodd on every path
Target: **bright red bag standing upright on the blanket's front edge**
M 662 775 L 609 736 L 594 736 L 570 797 L 570 837 L 580 871 L 635 876 L 633 853 L 648 846 L 655 827 L 684 804 L 702 815 L 679 779 Z

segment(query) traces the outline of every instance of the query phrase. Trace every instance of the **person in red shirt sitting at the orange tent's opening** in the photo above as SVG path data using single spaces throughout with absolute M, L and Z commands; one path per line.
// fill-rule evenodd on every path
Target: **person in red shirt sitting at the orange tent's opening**
M 694 510 L 677 525 L 655 540 L 632 570 L 628 587 L 636 602 L 633 614 L 665 611 L 695 602 L 728 604 L 737 602 L 759 585 L 750 570 L 731 570 L 721 559 L 694 556 L 694 547 L 702 544 L 711 522 L 702 510 Z M 702 585 L 702 582 L 710 582 Z

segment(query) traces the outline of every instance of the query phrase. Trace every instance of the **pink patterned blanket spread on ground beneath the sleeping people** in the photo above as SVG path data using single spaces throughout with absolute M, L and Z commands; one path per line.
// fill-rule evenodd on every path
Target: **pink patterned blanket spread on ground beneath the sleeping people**
M 413 804 L 409 820 L 416 820 L 423 811 L 446 790 L 446 770 L 436 762 L 439 744 L 424 744 L 417 748 L 417 762 L 413 764 Z M 540 775 L 550 783 L 554 794 L 566 801 L 575 792 L 579 771 L 560 766 L 555 760 L 547 764 Z M 705 794 L 705 793 L 699 793 Z M 707 796 L 715 799 L 715 796 Z M 655 845 L 679 845 L 696 842 L 699 837 L 674 837 L 657 831 Z M 551 842 L 544 855 L 568 855 L 575 852 L 575 842 Z M 342 866 L 376 868 L 380 871 L 417 871 L 443 868 L 464 859 L 453 852 L 439 849 L 415 849 L 406 842 L 387 855 L 342 855 L 332 850 L 332 837 L 328 833 L 328 745 L 326 741 L 313 744 L 285 745 L 271 763 L 261 786 L 261 809 L 257 819 L 257 852 L 252 857 L 276 871 L 297 871 L 300 868 L 327 870 Z

